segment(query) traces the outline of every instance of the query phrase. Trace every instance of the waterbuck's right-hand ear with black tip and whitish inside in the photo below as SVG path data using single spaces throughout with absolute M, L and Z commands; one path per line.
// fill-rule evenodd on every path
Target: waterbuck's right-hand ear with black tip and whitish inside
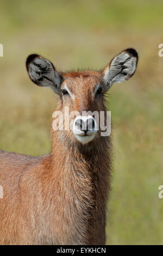
M 128 48 L 114 57 L 102 72 L 105 89 L 108 90 L 113 83 L 126 81 L 133 76 L 137 61 L 138 54 L 133 48 Z

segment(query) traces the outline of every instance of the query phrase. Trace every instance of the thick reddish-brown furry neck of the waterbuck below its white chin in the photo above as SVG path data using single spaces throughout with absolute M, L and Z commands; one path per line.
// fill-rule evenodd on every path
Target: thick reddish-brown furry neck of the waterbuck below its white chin
M 63 243 L 104 244 L 106 200 L 110 188 L 110 138 L 101 139 L 98 147 L 87 150 L 83 146 L 61 144 L 56 133 L 52 132 L 51 157 L 60 191 L 62 231 L 68 234 L 68 241 Z

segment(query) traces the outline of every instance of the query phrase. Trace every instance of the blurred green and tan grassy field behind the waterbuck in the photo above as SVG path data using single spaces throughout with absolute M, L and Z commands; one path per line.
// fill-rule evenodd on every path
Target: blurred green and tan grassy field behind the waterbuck
M 103 68 L 123 48 L 139 52 L 136 74 L 108 102 L 115 172 L 107 244 L 163 243 L 162 1 L 4 1 L 0 3 L 0 148 L 39 156 L 50 150 L 57 97 L 30 82 L 36 52 L 58 69 Z

